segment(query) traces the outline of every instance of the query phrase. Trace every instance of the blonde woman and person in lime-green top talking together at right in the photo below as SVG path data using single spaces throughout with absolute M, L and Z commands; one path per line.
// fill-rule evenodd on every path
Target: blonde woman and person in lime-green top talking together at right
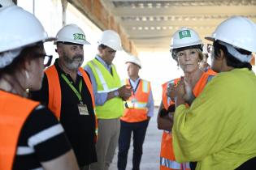
M 191 28 L 171 37 L 171 56 L 184 76 L 163 84 L 158 129 L 161 170 L 256 168 L 256 24 L 233 16 L 215 29 L 211 69 Z M 207 49 L 210 49 L 208 46 Z

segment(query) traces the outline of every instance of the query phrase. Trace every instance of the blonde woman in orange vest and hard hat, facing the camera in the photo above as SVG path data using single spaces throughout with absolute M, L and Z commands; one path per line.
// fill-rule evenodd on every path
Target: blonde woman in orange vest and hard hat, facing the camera
M 214 77 L 199 69 L 199 62 L 202 61 L 202 40 L 197 32 L 191 28 L 180 28 L 171 37 L 171 55 L 178 66 L 184 72 L 184 78 L 193 88 L 193 96 L 197 97 L 206 86 L 206 83 Z M 174 86 L 180 82 L 180 78 L 173 79 L 163 84 L 162 103 L 158 111 L 158 129 L 164 130 L 161 152 L 160 170 L 190 169 L 188 163 L 178 163 L 172 147 L 172 116 L 175 111 Z M 190 102 L 188 102 L 188 105 Z

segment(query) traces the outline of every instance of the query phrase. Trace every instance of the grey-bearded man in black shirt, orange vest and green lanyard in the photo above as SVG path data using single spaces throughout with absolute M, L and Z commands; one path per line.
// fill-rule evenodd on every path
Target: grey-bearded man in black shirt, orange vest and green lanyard
M 59 118 L 75 151 L 81 170 L 97 161 L 95 143 L 97 120 L 93 87 L 89 74 L 80 67 L 84 62 L 85 32 L 76 24 L 59 30 L 54 44 L 59 58 L 45 71 L 40 91 L 31 92 Z

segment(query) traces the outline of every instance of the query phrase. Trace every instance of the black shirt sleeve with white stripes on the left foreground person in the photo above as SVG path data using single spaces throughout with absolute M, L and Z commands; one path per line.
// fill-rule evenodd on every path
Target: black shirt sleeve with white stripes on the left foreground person
M 48 108 L 40 105 L 30 113 L 20 131 L 13 170 L 41 168 L 41 162 L 71 149 L 62 125 Z

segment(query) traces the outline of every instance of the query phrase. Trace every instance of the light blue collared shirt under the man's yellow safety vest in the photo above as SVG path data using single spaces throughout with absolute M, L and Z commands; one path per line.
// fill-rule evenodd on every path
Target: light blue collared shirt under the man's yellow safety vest
M 101 62 L 102 65 L 105 66 L 106 69 L 111 73 L 111 65 L 106 64 L 106 62 L 104 62 L 104 60 L 102 60 L 102 58 L 99 57 L 98 55 L 96 55 L 95 58 L 99 62 Z M 95 98 L 95 104 L 97 106 L 101 106 L 101 105 L 105 104 L 107 92 L 98 93 L 98 87 L 97 87 L 97 83 L 96 83 L 96 79 L 94 77 L 93 71 L 91 70 L 91 68 L 88 65 L 85 66 L 85 70 L 88 72 L 91 82 L 93 84 L 93 95 Z

